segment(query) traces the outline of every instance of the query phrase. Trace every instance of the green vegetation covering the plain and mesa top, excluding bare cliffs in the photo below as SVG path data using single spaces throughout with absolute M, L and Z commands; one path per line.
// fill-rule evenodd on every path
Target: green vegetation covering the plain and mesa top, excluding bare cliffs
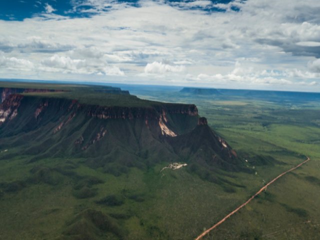
M 52 85 L 54 89 L 59 87 Z M 112 95 L 105 99 L 107 103 L 101 103 L 102 95 L 106 94 L 96 95 L 93 88 L 85 90 L 87 86 L 74 92 L 73 87 L 78 86 L 68 87 L 71 92 L 24 94 L 60 98 L 65 94 L 70 99 L 98 105 L 115 104 L 119 97 Z M 74 124 L 65 125 L 63 134 L 69 138 L 62 141 L 60 131 L 49 137 L 56 124 L 43 116 L 50 126 L 42 128 L 46 131 L 28 125 L 29 133 L 19 135 L 20 128 L 10 129 L 12 134 L 1 139 L 0 238 L 193 239 L 305 156 L 311 161 L 268 186 L 205 239 L 314 239 L 319 235 L 317 101 L 239 96 L 225 100 L 176 92 L 132 93 L 152 100 L 143 104 L 153 100 L 196 104 L 199 114 L 242 157 L 246 170 L 209 170 L 194 163 L 161 171 L 171 162 L 172 155 L 163 149 L 141 149 L 144 141 L 150 145 L 155 141 L 142 130 L 144 121 L 99 123 L 76 116 Z M 110 101 L 112 97 L 115 98 Z M 119 104 L 127 106 L 128 101 L 133 106 L 140 104 L 141 100 L 131 102 L 132 99 Z M 55 112 L 48 114 L 51 115 L 47 119 L 52 119 Z M 174 122 L 179 120 L 182 124 L 190 119 Z M 74 142 L 81 139 L 77 131 L 83 133 L 85 145 L 95 137 L 92 132 L 99 132 L 101 126 L 113 138 L 95 144 L 103 145 L 108 154 L 94 155 L 95 148 L 88 148 L 82 155 L 74 154 Z M 130 135 L 129 140 L 121 139 L 123 134 Z M 64 151 L 59 144 L 65 146 Z M 128 147 L 131 145 L 136 148 Z M 45 149 L 44 154 L 38 154 L 39 149 L 42 153 Z

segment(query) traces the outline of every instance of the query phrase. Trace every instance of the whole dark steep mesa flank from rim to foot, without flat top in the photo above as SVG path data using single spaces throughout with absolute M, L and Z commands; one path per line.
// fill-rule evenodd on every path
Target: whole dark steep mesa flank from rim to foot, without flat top
M 22 154 L 34 155 L 33 160 L 72 156 L 92 166 L 116 161 L 142 167 L 182 157 L 207 169 L 237 162 L 235 152 L 199 118 L 193 104 L 100 106 L 13 91 L 2 90 L 0 148 L 18 147 Z

